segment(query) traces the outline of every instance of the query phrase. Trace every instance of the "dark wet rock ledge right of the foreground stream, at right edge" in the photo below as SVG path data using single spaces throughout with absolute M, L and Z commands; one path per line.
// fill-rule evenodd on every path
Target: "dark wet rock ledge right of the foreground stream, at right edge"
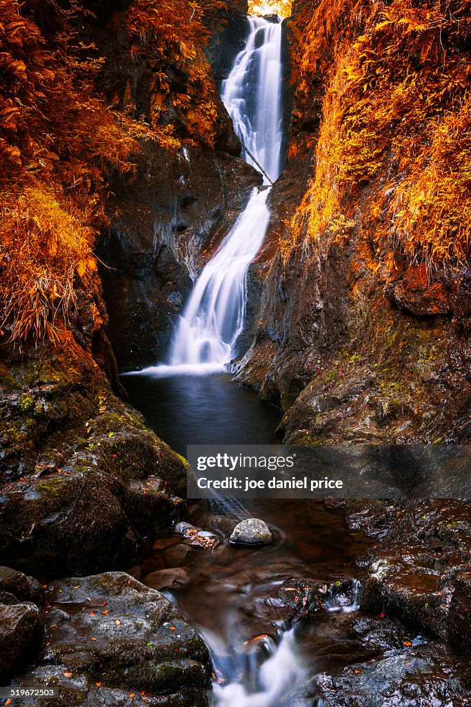
M 464 501 L 347 504 L 350 527 L 376 539 L 360 605 L 400 617 L 466 653 L 471 647 L 471 514 Z

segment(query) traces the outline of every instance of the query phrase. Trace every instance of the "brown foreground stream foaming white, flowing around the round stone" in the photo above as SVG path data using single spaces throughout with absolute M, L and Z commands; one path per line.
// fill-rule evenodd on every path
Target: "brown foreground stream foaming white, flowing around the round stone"
M 268 523 L 273 543 L 231 544 L 234 525 L 254 516 Z M 187 556 L 185 585 L 164 593 L 210 650 L 211 704 L 310 705 L 309 688 L 316 674 L 341 670 L 357 660 L 359 646 L 342 626 L 358 609 L 357 584 L 336 594 L 335 580 L 354 572 L 354 560 L 369 542 L 347 530 L 341 509 L 321 502 L 201 501 L 190 508 L 187 520 L 213 534 L 218 543 Z M 143 549 L 144 583 L 149 573 L 173 566 L 169 545 L 182 539 L 172 528 L 168 535 Z M 310 583 L 322 588 L 323 609 L 293 625 L 282 597 L 293 597 L 299 588 L 299 605 L 304 606 Z

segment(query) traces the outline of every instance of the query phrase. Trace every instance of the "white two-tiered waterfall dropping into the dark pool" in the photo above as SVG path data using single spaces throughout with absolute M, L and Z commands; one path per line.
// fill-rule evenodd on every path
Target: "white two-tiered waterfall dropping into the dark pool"
M 249 23 L 246 47 L 222 86 L 222 100 L 236 134 L 275 180 L 280 173 L 282 141 L 281 24 L 260 17 L 249 17 Z M 244 156 L 253 164 L 245 151 Z M 267 189 L 254 189 L 245 211 L 193 286 L 179 317 L 169 366 L 148 372 L 174 375 L 225 370 L 244 325 L 247 268 L 268 227 L 267 197 Z

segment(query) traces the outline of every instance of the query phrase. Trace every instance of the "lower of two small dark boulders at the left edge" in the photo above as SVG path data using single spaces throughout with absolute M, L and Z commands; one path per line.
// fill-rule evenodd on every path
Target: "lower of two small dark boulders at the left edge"
M 13 597 L 13 595 L 11 595 Z M 32 602 L 0 603 L 0 680 L 11 679 L 42 645 L 42 612 Z

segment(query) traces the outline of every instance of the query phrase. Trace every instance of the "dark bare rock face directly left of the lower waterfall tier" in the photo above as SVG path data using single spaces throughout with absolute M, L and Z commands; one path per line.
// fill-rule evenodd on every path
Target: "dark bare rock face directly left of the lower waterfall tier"
M 121 215 L 99 248 L 111 268 L 100 274 L 120 368 L 165 360 L 193 280 L 260 182 L 222 151 L 143 146 L 136 180 L 114 186 Z

